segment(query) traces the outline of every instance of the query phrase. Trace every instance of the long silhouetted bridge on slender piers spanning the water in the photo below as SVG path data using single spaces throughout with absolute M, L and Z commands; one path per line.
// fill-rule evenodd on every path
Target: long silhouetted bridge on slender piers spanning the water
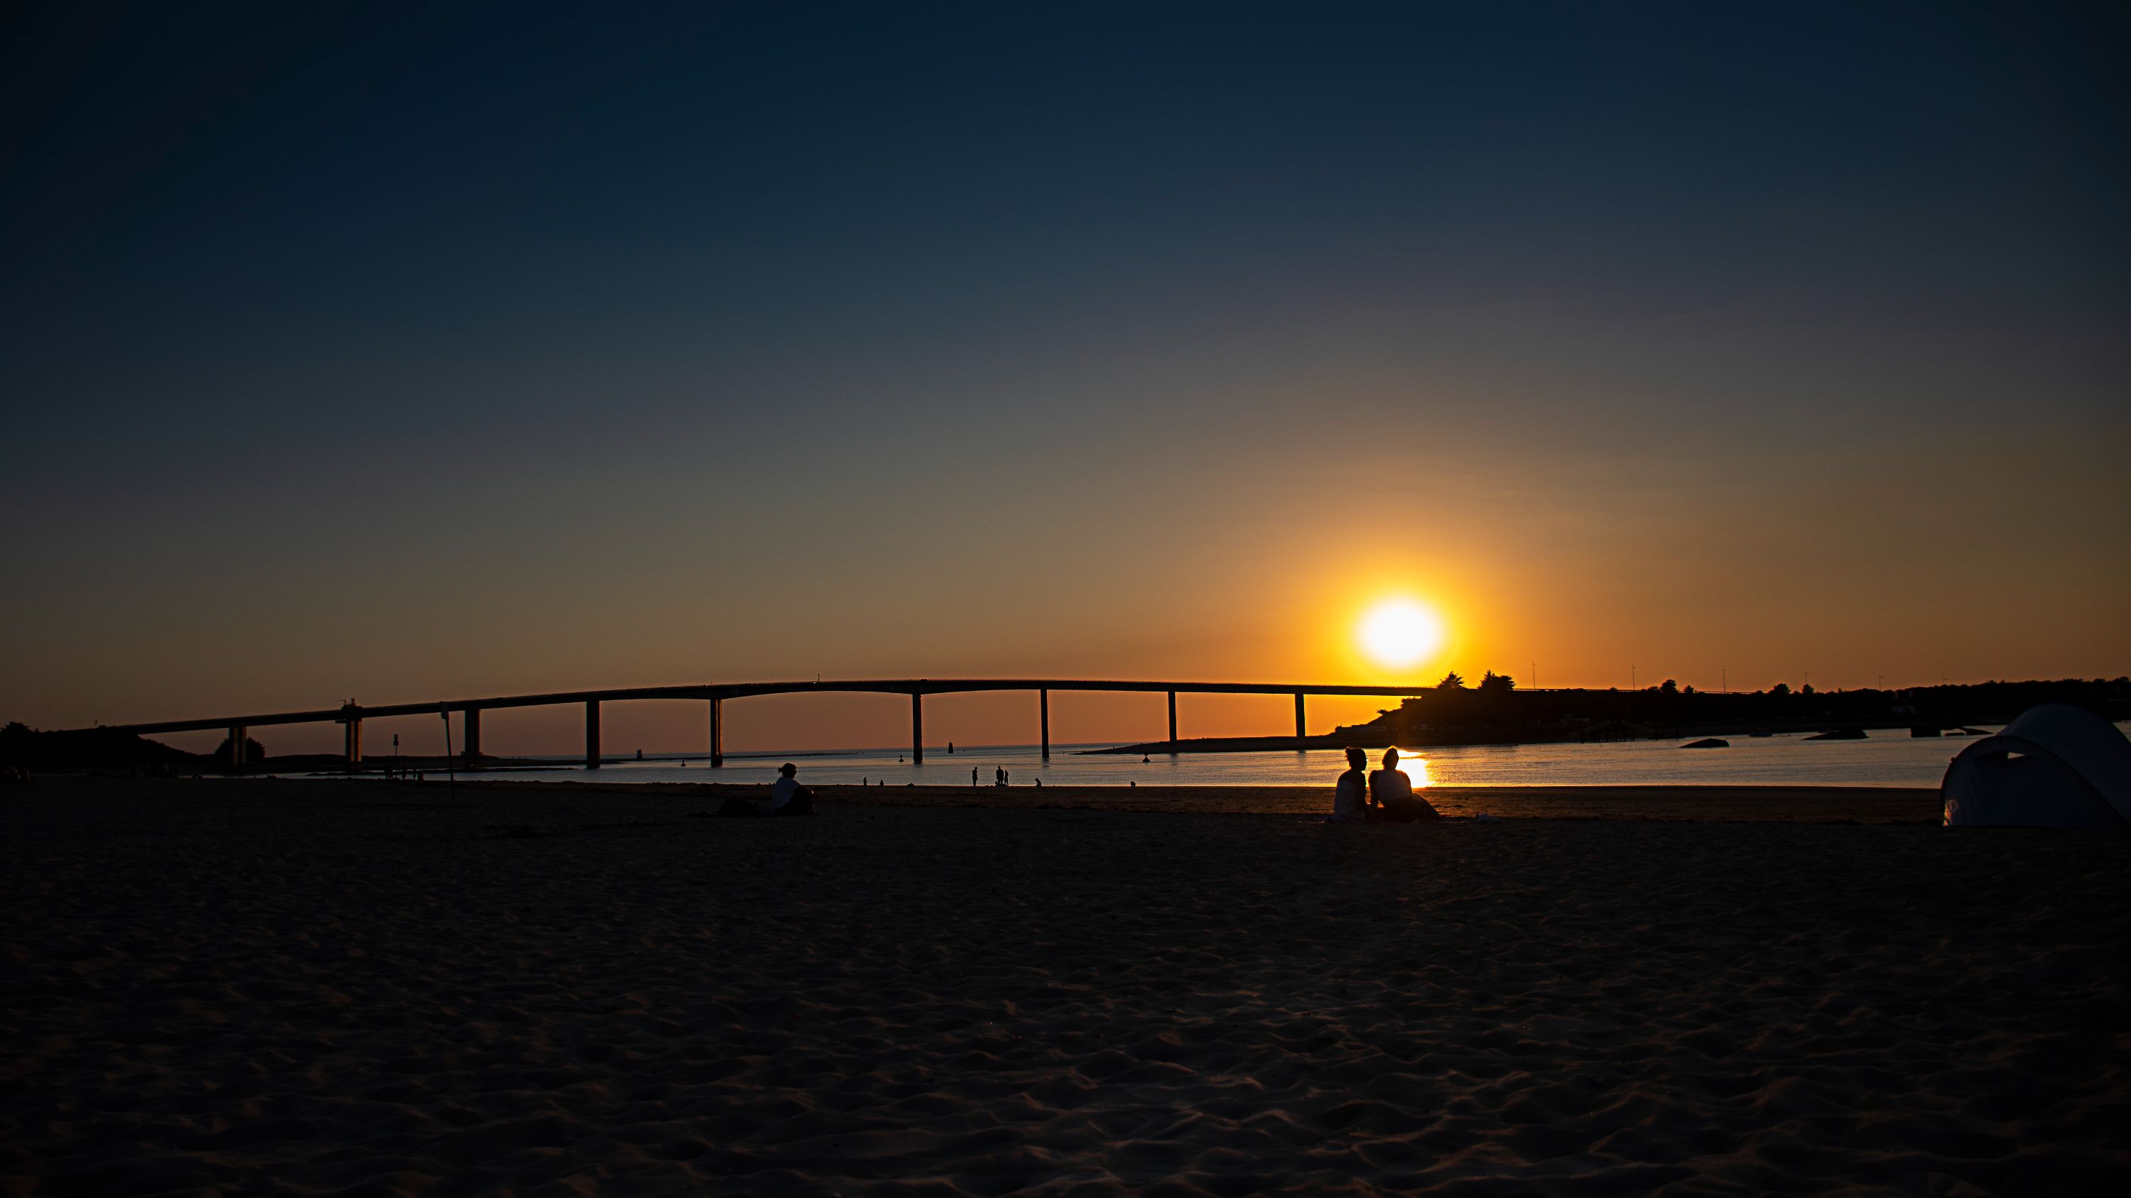
M 1302 701 L 1308 695 L 1364 695 L 1402 697 L 1421 695 L 1426 686 L 1317 686 L 1294 682 L 1110 682 L 1100 678 L 869 678 L 846 682 L 716 682 L 701 686 L 622 686 L 616 691 L 556 691 L 548 695 L 497 695 L 490 699 L 445 699 L 439 703 L 386 703 L 320 708 L 313 712 L 269 712 L 254 716 L 211 716 L 196 721 L 160 721 L 145 725 L 117 725 L 113 731 L 153 735 L 170 731 L 213 731 L 230 733 L 230 767 L 243 767 L 245 735 L 254 727 L 269 725 L 345 725 L 347 765 L 362 763 L 362 721 L 384 716 L 435 716 L 450 721 L 460 712 L 465 738 L 460 752 L 467 767 L 477 767 L 482 759 L 482 712 L 494 708 L 552 708 L 584 703 L 584 765 L 599 767 L 599 706 L 637 699 L 693 699 L 707 703 L 710 763 L 725 765 L 725 701 L 750 695 L 812 695 L 812 693 L 865 693 L 865 695 L 910 695 L 910 759 L 925 763 L 925 695 L 965 695 L 972 691 L 1036 691 L 1038 721 L 1042 731 L 1044 761 L 1051 759 L 1051 693 L 1053 691 L 1159 691 L 1170 697 L 1170 744 L 1176 744 L 1176 695 L 1294 695 L 1296 697 L 1296 746 L 1306 733 L 1302 727 Z

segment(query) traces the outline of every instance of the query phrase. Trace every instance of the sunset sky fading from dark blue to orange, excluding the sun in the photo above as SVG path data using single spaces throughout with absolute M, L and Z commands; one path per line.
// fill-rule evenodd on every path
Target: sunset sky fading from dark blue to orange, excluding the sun
M 2127 53 L 2112 4 L 11 4 L 0 718 L 2127 674 Z M 1362 654 L 1387 597 L 1443 650 Z

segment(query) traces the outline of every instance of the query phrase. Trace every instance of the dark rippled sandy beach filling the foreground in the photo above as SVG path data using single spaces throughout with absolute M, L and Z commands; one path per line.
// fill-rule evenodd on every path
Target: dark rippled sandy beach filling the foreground
M 1918 791 L 1466 793 L 1509 819 L 1421 827 L 825 797 L 0 789 L 0 1192 L 2131 1177 L 2122 838 L 1941 829 Z

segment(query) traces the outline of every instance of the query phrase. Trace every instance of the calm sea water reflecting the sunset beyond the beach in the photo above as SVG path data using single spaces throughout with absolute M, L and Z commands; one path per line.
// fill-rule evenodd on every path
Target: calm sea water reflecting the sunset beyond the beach
M 2118 725 L 2125 727 L 2125 725 Z M 1875 731 L 1867 740 L 1805 740 L 1805 735 L 1728 738 L 1730 748 L 1681 748 L 1681 742 L 1637 740 L 1617 744 L 1498 744 L 1411 750 L 1402 763 L 1417 784 L 1436 787 L 1649 787 L 1649 784 L 1807 784 L 1807 787 L 1937 787 L 1946 763 L 1973 738 L 1912 738 Z M 686 761 L 618 761 L 597 774 L 556 759 L 563 770 L 488 770 L 484 778 L 601 782 L 769 782 L 782 761 L 799 765 L 814 784 L 921 782 L 929 787 L 991 784 L 1004 765 L 1014 787 L 1038 778 L 1046 787 L 1323 787 L 1338 776 L 1343 755 L 1308 752 L 1185 752 L 1176 757 L 1080 755 L 1051 746 L 1042 761 L 1034 744 L 965 744 L 955 755 L 927 748 L 925 765 L 904 750 L 765 752 L 725 759 L 712 770 L 701 757 Z M 1374 761 L 1374 752 L 1370 759 Z

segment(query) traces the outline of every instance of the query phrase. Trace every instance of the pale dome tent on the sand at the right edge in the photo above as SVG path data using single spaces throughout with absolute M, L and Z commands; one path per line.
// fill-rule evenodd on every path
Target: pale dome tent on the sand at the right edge
M 1939 797 L 1948 827 L 2131 829 L 2131 740 L 2084 708 L 2029 708 L 1963 748 Z

